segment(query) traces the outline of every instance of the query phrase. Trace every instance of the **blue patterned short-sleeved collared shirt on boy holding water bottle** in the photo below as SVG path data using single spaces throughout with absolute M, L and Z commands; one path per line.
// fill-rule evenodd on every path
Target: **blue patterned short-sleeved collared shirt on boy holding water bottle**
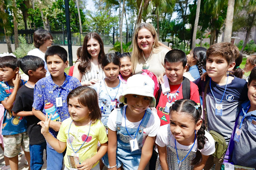
M 61 86 L 56 85 L 52 81 L 52 76 L 40 79 L 34 88 L 34 103 L 32 105 L 34 109 L 42 111 L 42 113 L 46 115 L 44 110 L 45 104 L 50 102 L 56 107 L 56 97 L 62 97 L 62 107 L 56 107 L 61 121 L 70 117 L 68 113 L 68 104 L 66 102 L 68 93 L 76 87 L 81 86 L 78 79 L 66 75 L 66 73 L 64 74 L 66 76 L 66 80 Z M 58 132 L 54 131 L 52 128 L 49 128 L 49 132 L 55 138 L 57 137 Z

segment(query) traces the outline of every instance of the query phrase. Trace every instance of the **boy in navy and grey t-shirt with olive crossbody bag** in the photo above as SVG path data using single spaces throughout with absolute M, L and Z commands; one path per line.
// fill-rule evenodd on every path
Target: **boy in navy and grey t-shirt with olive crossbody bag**
M 247 83 L 244 79 L 227 75 L 235 66 L 235 59 L 239 55 L 238 48 L 231 43 L 216 43 L 206 51 L 206 81 L 197 79 L 199 92 L 205 99 L 208 130 L 214 130 L 224 137 L 226 144 L 230 140 L 236 117 L 243 101 L 248 100 Z M 206 89 L 207 88 L 207 89 Z M 206 89 L 206 94 L 204 91 Z M 205 103 L 206 102 L 206 103 Z M 205 118 L 205 115 L 204 115 Z M 204 170 L 210 170 L 215 164 L 220 169 L 223 158 L 210 156 Z

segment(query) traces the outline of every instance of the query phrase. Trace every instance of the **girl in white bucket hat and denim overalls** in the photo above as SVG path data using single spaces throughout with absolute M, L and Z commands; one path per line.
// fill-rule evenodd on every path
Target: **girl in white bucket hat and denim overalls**
M 110 169 L 144 169 L 160 127 L 159 117 L 149 109 L 156 105 L 154 81 L 140 74 L 129 77 L 119 100 L 126 105 L 109 115 L 108 153 L 102 161 Z

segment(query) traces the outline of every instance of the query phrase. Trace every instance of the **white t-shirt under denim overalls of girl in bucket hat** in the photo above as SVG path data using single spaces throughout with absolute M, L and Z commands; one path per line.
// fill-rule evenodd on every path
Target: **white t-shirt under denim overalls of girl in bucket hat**
M 122 127 L 125 127 L 125 122 L 124 122 L 124 112 L 125 112 L 125 108 L 127 106 L 124 106 L 123 108 L 123 115 L 122 115 Z M 112 131 L 116 131 L 116 115 L 117 115 L 117 109 L 114 109 L 109 117 L 108 117 L 108 128 Z M 140 125 L 141 121 L 138 122 L 130 122 L 127 118 L 126 118 L 126 127 L 129 128 L 138 128 Z M 158 117 L 157 114 L 153 113 L 150 116 L 150 119 L 148 121 L 147 127 L 143 129 L 143 141 L 145 140 L 146 136 L 150 136 L 150 137 L 154 137 L 156 136 L 158 129 L 160 127 L 160 119 Z

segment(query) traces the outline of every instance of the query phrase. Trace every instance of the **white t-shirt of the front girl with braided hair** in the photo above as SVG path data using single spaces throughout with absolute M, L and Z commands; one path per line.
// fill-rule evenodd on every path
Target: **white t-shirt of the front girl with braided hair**
M 175 138 L 174 136 L 170 136 L 170 143 L 169 143 L 169 136 L 168 136 L 168 128 L 170 128 L 169 124 L 163 125 L 159 128 L 158 133 L 156 135 L 156 144 L 160 147 L 168 146 L 169 144 L 175 148 Z M 208 139 L 206 140 L 204 144 L 204 148 L 201 150 L 201 153 L 203 155 L 211 155 L 215 152 L 215 142 L 214 139 L 212 138 L 212 135 L 208 133 L 205 130 L 205 137 Z M 180 144 L 179 142 L 176 142 L 177 149 L 182 149 L 182 150 L 190 150 L 190 148 L 193 146 L 193 144 L 189 146 L 185 146 Z M 197 138 L 194 144 L 194 147 L 192 148 L 192 151 L 196 152 L 198 149 L 197 147 Z

